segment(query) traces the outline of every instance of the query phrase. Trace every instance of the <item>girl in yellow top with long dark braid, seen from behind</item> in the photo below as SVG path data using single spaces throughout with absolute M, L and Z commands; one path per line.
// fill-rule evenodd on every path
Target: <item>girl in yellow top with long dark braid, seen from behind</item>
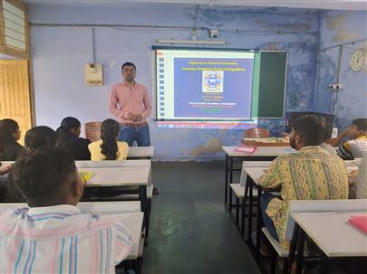
M 117 141 L 119 127 L 119 123 L 113 119 L 107 119 L 101 123 L 101 140 L 92 142 L 88 146 L 92 161 L 126 159 L 129 145 L 126 142 Z

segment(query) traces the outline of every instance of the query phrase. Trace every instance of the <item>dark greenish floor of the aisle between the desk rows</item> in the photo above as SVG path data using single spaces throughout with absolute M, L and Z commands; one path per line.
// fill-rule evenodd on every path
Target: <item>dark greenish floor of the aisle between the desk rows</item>
M 224 177 L 224 162 L 153 163 L 143 274 L 259 273 L 225 211 Z

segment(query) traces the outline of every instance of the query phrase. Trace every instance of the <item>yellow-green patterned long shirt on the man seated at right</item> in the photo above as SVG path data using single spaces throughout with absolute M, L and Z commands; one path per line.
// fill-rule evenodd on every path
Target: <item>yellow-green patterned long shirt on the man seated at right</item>
M 304 146 L 298 153 L 279 156 L 260 179 L 265 189 L 281 188 L 282 200 L 275 198 L 266 213 L 273 220 L 285 249 L 285 222 L 291 200 L 348 199 L 348 175 L 343 160 L 320 146 Z

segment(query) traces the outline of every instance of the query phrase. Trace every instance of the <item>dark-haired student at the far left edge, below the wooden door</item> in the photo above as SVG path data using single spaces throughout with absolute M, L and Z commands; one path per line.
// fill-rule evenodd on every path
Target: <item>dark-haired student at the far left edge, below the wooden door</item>
M 15 161 L 24 151 L 24 146 L 18 144 L 20 130 L 13 119 L 0 120 L 0 160 Z

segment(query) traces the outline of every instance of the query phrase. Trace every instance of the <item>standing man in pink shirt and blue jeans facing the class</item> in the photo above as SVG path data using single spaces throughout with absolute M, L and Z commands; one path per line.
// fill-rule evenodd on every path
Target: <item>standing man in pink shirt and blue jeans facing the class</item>
M 128 61 L 121 67 L 123 81 L 111 90 L 110 111 L 120 122 L 119 141 L 132 146 L 150 146 L 150 128 L 146 118 L 151 105 L 147 88 L 135 81 L 136 66 Z

